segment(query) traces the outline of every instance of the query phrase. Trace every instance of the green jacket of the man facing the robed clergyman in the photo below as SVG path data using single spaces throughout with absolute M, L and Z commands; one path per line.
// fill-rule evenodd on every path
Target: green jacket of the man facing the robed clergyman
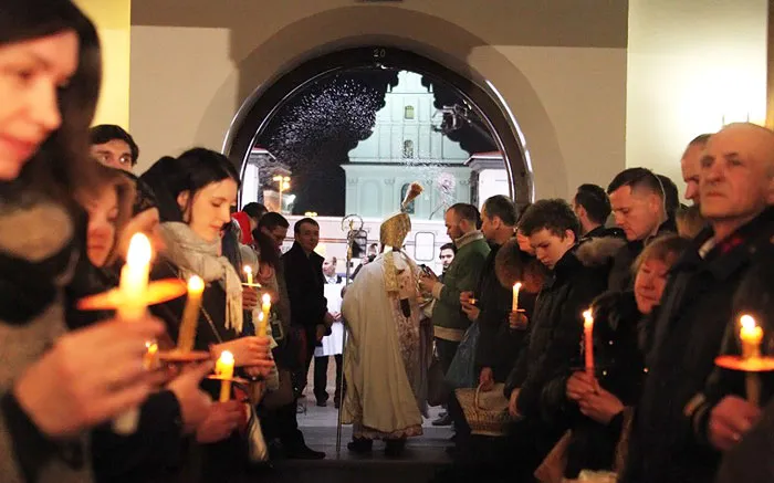
M 432 294 L 438 301 L 432 311 L 432 325 L 437 327 L 436 336 L 449 340 L 456 337 L 450 337 L 449 330 L 443 329 L 457 332 L 459 336 L 457 340 L 459 340 L 470 325 L 468 316 L 460 306 L 460 293 L 474 292 L 478 288 L 479 277 L 490 252 L 489 244 L 480 231 L 462 235 L 454 243 L 458 246 L 457 254 L 449 270 L 443 274 L 443 286 L 440 290 L 436 288 Z

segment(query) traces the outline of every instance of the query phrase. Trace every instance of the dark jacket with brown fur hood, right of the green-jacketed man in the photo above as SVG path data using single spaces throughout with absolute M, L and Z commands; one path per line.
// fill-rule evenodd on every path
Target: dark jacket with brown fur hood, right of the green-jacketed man
M 475 365 L 479 369 L 491 368 L 494 380 L 504 382 L 519 358 L 527 334 L 526 330 L 511 329 L 508 318 L 513 304 L 513 283 L 516 280 L 523 281 L 522 265 L 529 262 L 519 250 L 515 239 L 502 246 L 493 244 L 491 249 L 475 291 L 481 309 L 478 319 L 480 334 L 475 348 Z M 506 277 L 504 272 L 509 271 L 517 272 L 519 275 L 514 280 L 503 280 Z M 527 319 L 532 317 L 535 297 L 534 293 L 520 293 L 519 306 L 525 311 Z

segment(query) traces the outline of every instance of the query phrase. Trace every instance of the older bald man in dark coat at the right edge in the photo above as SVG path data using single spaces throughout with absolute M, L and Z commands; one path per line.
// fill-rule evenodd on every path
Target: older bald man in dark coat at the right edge
M 665 290 L 624 482 L 710 481 L 717 449 L 735 445 L 757 417 L 757 408 L 732 395 L 740 390 L 708 393 L 705 385 L 726 326 L 739 324 L 733 294 L 753 253 L 774 235 L 773 177 L 771 130 L 732 124 L 710 137 L 699 180 L 710 227 L 672 267 Z

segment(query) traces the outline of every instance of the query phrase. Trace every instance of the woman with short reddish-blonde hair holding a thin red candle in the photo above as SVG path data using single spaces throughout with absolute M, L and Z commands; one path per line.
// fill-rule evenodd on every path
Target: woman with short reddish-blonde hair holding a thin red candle
M 619 441 L 647 371 L 647 316 L 661 300 L 669 269 L 689 243 L 678 235 L 651 241 L 632 266 L 634 292 L 607 292 L 584 314 L 586 325 L 593 327 L 593 351 L 578 354 L 575 366 L 587 369 L 550 384 L 552 392 L 564 392 L 564 412 L 572 421 L 563 444 L 564 477 L 620 465 L 616 458 L 624 454 L 616 450 L 623 449 Z

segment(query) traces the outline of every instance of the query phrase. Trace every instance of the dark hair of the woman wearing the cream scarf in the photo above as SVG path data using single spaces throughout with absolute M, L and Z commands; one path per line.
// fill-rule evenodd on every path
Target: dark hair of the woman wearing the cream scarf
M 212 182 L 232 179 L 240 185 L 239 172 L 229 158 L 206 148 L 189 149 L 177 158 L 165 156 L 139 179 L 156 195 L 161 221 L 186 221 L 184 213 L 187 210 L 177 203 L 178 195 L 184 191 L 190 193 L 190 207 L 196 193 Z

